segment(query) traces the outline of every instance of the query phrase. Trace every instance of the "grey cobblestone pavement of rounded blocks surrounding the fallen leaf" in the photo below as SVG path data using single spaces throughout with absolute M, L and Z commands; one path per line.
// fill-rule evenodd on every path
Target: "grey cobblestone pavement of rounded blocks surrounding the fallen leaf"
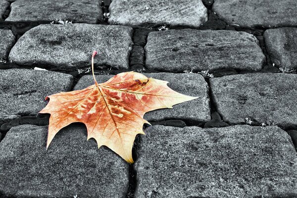
M 296 16 L 296 0 L 0 0 L 0 198 L 297 198 Z M 145 115 L 135 164 L 80 123 L 46 150 L 44 99 L 92 85 L 93 50 L 98 82 L 138 71 L 198 98 Z

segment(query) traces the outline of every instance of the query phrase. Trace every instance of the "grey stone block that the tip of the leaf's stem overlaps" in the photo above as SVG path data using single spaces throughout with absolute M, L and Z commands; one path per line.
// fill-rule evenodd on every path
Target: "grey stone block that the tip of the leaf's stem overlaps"
M 20 65 L 49 65 L 76 70 L 91 65 L 128 68 L 133 29 L 94 24 L 39 25 L 26 32 L 11 49 L 9 60 Z

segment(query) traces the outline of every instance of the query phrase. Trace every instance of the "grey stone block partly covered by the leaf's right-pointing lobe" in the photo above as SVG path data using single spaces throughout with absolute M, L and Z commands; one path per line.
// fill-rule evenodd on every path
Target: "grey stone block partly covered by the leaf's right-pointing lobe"
M 210 120 L 208 85 L 199 74 L 144 73 L 149 78 L 168 81 L 168 86 L 176 92 L 198 97 L 191 101 L 173 106 L 173 109 L 157 109 L 145 114 L 144 118 L 151 122 L 164 120 L 183 120 L 190 124 L 201 125 Z M 97 75 L 98 83 L 110 79 L 112 75 Z M 84 89 L 94 84 L 92 75 L 83 76 L 74 90 Z

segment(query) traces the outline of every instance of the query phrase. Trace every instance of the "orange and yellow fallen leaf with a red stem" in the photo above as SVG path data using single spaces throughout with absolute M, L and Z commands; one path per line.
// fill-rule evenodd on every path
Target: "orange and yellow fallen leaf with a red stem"
M 40 113 L 50 114 L 47 148 L 60 129 L 82 122 L 87 127 L 87 140 L 94 138 L 98 148 L 104 145 L 133 163 L 135 136 L 144 134 L 143 125 L 148 123 L 144 114 L 196 98 L 173 91 L 166 81 L 137 72 L 123 72 L 98 84 L 94 75 L 96 54 L 94 51 L 92 55 L 94 85 L 46 97 L 49 103 Z

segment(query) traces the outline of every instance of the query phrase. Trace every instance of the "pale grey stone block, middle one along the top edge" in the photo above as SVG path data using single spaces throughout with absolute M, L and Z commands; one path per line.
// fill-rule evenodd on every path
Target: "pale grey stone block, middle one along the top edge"
M 200 27 L 207 21 L 201 0 L 112 0 L 110 24 L 129 26 L 171 25 Z

